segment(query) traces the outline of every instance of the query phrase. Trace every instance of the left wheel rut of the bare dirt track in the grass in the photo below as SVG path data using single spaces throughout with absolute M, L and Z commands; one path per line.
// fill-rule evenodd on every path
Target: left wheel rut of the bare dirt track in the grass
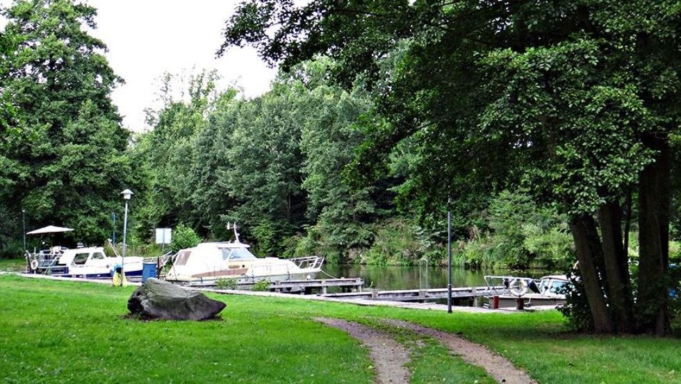
M 368 326 L 341 319 L 317 318 L 327 326 L 341 329 L 361 341 L 369 349 L 369 357 L 374 363 L 377 384 L 407 384 L 409 351 L 385 333 Z

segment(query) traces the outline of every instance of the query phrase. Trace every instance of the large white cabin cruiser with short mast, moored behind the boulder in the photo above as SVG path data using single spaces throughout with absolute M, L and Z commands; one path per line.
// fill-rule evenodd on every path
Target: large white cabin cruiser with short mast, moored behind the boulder
M 237 284 L 289 280 L 311 280 L 322 270 L 324 258 L 257 258 L 248 244 L 239 241 L 236 227 L 233 242 L 204 242 L 181 249 L 165 275 L 168 281 L 211 283 L 219 278 L 236 279 Z

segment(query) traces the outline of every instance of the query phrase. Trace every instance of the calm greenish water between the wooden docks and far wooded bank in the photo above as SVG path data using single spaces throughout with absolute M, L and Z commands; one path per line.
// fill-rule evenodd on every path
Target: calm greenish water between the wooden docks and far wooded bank
M 446 288 L 447 267 L 429 266 L 427 271 L 422 267 L 395 266 L 395 265 L 327 265 L 322 271 L 333 277 L 361 277 L 365 287 L 375 287 L 381 290 L 417 290 L 425 288 Z M 504 269 L 493 270 L 470 270 L 461 267 L 452 267 L 453 287 L 472 287 L 485 285 L 485 275 L 511 275 L 539 278 L 547 272 L 509 272 Z M 318 274 L 317 278 L 329 277 Z

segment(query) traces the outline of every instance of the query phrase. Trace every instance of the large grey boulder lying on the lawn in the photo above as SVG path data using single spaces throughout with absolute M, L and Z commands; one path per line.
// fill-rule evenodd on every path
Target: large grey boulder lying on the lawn
M 172 320 L 207 320 L 223 310 L 222 301 L 208 299 L 205 294 L 186 290 L 179 285 L 149 278 L 128 299 L 133 315 Z

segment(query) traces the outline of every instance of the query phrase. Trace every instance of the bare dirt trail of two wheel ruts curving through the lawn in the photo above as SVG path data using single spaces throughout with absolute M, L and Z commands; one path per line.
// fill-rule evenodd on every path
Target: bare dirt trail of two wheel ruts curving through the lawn
M 325 317 L 320 317 L 316 320 L 327 326 L 347 332 L 369 349 L 369 357 L 374 363 L 376 370 L 376 383 L 409 383 L 411 374 L 405 367 L 409 362 L 409 349 L 393 340 L 390 335 L 346 320 Z M 532 380 L 522 370 L 514 367 L 506 358 L 491 352 L 480 344 L 469 342 L 463 339 L 463 337 L 398 320 L 386 320 L 385 323 L 397 328 L 407 329 L 418 335 L 433 337 L 452 352 L 461 356 L 468 364 L 477 365 L 485 369 L 487 374 L 498 383 L 536 384 L 536 381 Z

